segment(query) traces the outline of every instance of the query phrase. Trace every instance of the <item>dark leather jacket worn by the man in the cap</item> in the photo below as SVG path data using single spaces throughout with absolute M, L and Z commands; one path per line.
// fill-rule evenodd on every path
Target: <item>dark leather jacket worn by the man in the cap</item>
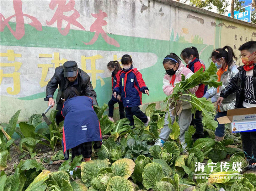
M 46 86 L 46 96 L 54 94 L 55 90 L 58 88 L 59 85 L 59 91 L 56 99 L 56 103 L 60 101 L 60 96 L 62 92 L 66 90 L 71 84 L 67 78 L 64 77 L 64 68 L 63 66 L 59 66 L 55 69 L 55 73 L 48 82 Z M 96 100 L 96 92 L 94 91 L 91 82 L 90 82 L 90 76 L 86 74 L 84 71 L 82 71 L 80 68 L 78 68 L 78 85 L 76 86 L 76 89 L 80 92 L 81 95 L 85 95 L 88 97 L 91 97 L 93 100 L 94 105 L 98 105 Z

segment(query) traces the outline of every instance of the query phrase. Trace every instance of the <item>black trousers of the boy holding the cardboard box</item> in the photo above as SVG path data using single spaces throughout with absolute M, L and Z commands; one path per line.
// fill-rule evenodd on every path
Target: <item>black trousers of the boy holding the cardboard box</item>
M 245 156 L 256 158 L 256 131 L 240 133 Z

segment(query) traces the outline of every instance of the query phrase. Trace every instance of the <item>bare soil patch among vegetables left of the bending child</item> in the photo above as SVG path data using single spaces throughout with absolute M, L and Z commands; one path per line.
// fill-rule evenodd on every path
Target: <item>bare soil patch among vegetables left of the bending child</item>
M 15 141 L 18 142 L 18 141 Z M 18 145 L 17 145 L 18 146 Z M 51 164 L 53 161 L 51 157 L 55 155 L 59 150 L 62 150 L 61 145 L 57 145 L 55 148 L 55 152 L 52 151 L 51 148 L 47 147 L 46 145 L 40 145 L 38 144 L 36 146 L 37 154 L 34 158 L 31 158 L 29 154 L 27 154 L 25 157 L 21 158 L 22 155 L 25 155 L 25 152 L 20 153 L 20 150 L 14 146 L 11 146 L 10 148 L 10 156 L 11 160 L 7 160 L 7 168 L 4 170 L 7 175 L 11 175 L 15 172 L 14 166 L 17 165 L 21 159 L 35 159 L 37 162 L 41 163 L 46 168 L 46 170 L 49 170 L 50 172 L 58 171 L 61 163 L 59 164 Z

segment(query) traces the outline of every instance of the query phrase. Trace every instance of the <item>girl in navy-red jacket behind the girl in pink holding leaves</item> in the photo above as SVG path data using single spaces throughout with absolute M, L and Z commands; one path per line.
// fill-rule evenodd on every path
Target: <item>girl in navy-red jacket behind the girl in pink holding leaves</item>
M 200 68 L 203 67 L 205 71 L 205 66 L 201 60 L 199 60 L 199 54 L 197 48 L 194 46 L 188 47 L 181 52 L 182 60 L 187 64 L 193 73 L 197 72 Z M 207 86 L 204 84 L 199 84 L 198 90 L 196 91 L 197 97 L 203 97 L 207 91 Z M 197 110 L 195 114 L 192 115 L 191 125 L 196 126 L 196 133 L 193 135 L 194 139 L 204 137 L 203 133 L 203 124 L 202 124 L 202 111 Z

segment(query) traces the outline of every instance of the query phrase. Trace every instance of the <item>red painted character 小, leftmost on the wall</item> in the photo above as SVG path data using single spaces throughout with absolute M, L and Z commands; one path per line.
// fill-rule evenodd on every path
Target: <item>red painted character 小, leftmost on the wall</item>
M 42 31 L 42 24 L 37 20 L 36 17 L 32 17 L 27 14 L 23 14 L 22 12 L 22 1 L 21 0 L 13 0 L 13 5 L 14 5 L 14 11 L 15 14 L 5 18 L 2 13 L 0 13 L 0 31 L 3 32 L 5 26 L 9 28 L 11 31 L 12 35 L 15 36 L 17 40 L 20 40 L 24 35 L 25 35 L 25 23 L 24 23 L 24 17 L 28 17 L 32 20 L 31 23 L 29 23 L 32 27 L 36 28 L 39 31 Z M 12 30 L 12 28 L 9 25 L 9 21 L 12 17 L 16 17 L 16 30 Z

